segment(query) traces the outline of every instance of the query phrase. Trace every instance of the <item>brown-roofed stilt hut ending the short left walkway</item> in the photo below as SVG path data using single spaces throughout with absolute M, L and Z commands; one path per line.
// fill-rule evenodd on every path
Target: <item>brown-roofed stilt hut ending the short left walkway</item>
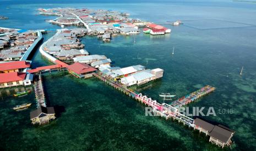
M 32 124 L 45 124 L 50 120 L 55 119 L 55 110 L 53 107 L 39 107 L 35 111 L 30 112 L 30 120 Z

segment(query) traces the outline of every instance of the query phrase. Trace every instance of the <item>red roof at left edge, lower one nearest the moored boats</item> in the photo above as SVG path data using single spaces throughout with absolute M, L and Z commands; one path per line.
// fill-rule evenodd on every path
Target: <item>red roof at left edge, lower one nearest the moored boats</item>
M 20 81 L 24 80 L 25 77 L 26 73 L 23 72 L 0 73 L 0 83 Z

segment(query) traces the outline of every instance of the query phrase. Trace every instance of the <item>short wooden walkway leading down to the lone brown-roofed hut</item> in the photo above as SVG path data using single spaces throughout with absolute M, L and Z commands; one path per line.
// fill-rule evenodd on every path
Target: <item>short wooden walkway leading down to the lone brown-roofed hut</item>
M 39 108 L 40 106 L 46 107 L 45 93 L 43 92 L 41 74 L 39 75 L 39 79 L 35 81 L 34 87 L 35 87 L 37 108 Z

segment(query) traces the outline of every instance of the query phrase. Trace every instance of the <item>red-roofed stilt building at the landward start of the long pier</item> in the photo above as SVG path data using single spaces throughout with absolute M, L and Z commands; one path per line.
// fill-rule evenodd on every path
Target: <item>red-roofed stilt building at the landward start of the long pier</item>
M 81 62 L 75 62 L 72 65 L 67 66 L 67 69 L 69 73 L 73 74 L 77 78 L 90 77 L 91 73 L 94 73 L 97 71 L 96 68 Z

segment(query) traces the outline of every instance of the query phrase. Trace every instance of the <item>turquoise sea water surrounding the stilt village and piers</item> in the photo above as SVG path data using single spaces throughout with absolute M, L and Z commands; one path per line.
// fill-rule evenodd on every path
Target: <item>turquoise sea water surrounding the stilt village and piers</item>
M 45 22 L 54 16 L 37 15 L 37 8 L 74 7 L 112 9 L 172 29 L 165 36 L 141 33 L 117 36 L 111 43 L 96 37 L 81 38 L 91 54 L 104 54 L 113 65 L 144 65 L 162 68 L 164 78 L 134 88 L 162 102 L 161 92 L 182 97 L 204 85 L 216 87 L 212 94 L 189 107 L 233 109 L 205 119 L 235 130 L 233 150 L 256 147 L 256 5 L 232 1 L 164 1 L 15 4 L 4 2 L 1 27 L 20 29 L 59 28 Z M 43 3 L 43 4 L 42 4 Z M 10 9 L 6 9 L 9 7 Z M 173 27 L 167 21 L 182 20 Z M 44 40 L 54 32 L 44 35 Z M 171 55 L 175 46 L 175 55 Z M 37 66 L 48 65 L 38 51 Z M 243 75 L 239 75 L 244 66 Z M 34 102 L 34 93 L 14 98 L 23 88 L 0 90 L 0 146 L 4 150 L 220 150 L 208 137 L 172 120 L 145 117 L 145 107 L 97 79 L 81 80 L 62 72 L 43 76 L 48 104 L 58 108 L 57 120 L 32 126 L 28 111 L 15 113 L 11 107 Z M 20 90 L 19 90 L 20 89 Z M 32 89 L 32 88 L 26 88 Z M 225 148 L 228 150 L 229 148 Z

